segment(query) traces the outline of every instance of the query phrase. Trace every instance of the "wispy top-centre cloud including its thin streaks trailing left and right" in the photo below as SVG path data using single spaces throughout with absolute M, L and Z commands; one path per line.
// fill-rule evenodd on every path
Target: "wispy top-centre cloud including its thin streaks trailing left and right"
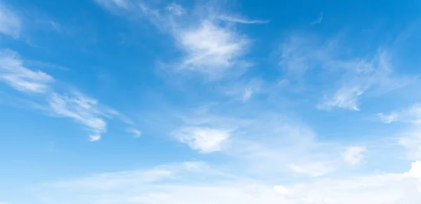
M 210 78 L 222 78 L 224 73 L 233 70 L 241 73 L 250 66 L 242 58 L 248 52 L 250 39 L 241 34 L 235 25 L 226 25 L 223 22 L 263 23 L 231 15 L 218 15 L 215 9 L 210 8 L 190 11 L 176 3 L 162 8 L 150 8 L 145 3 L 132 1 L 128 6 L 114 0 L 102 0 L 98 3 L 108 10 L 119 9 L 146 17 L 157 28 L 171 34 L 183 53 L 180 59 L 171 60 L 170 67 L 177 71 L 195 71 Z

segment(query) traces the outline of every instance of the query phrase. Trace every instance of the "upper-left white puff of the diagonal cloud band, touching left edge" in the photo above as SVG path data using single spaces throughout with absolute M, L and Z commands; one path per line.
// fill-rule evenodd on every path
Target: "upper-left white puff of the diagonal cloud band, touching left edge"
M 0 50 L 0 80 L 22 92 L 44 93 L 54 79 L 41 71 L 32 71 L 22 64 L 18 53 Z

